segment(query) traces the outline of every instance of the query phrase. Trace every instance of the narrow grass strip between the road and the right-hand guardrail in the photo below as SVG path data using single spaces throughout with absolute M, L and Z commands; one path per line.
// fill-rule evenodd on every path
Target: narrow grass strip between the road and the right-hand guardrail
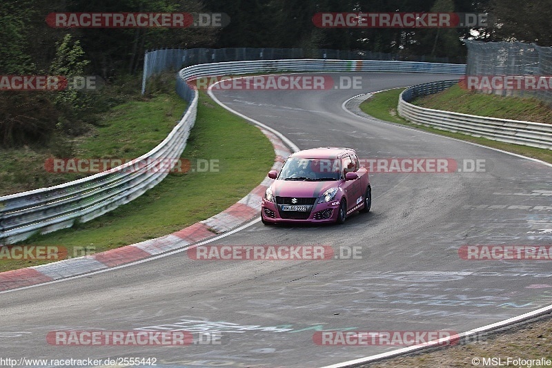
M 402 117 L 397 115 L 397 104 L 399 101 L 399 95 L 403 90 L 404 88 L 396 88 L 393 90 L 386 90 L 384 92 L 376 93 L 375 95 L 373 95 L 373 97 L 364 101 L 360 105 L 360 108 L 362 111 L 364 111 L 364 113 L 368 115 L 372 115 L 377 119 L 385 120 L 387 122 L 393 122 L 397 124 L 411 126 L 412 128 L 424 130 L 426 132 L 444 135 L 446 137 L 452 137 L 456 139 L 462 139 L 467 142 L 473 142 L 473 143 L 481 144 L 483 146 L 498 148 L 503 151 L 517 153 L 519 155 L 533 157 L 536 159 L 541 159 L 544 162 L 552 163 L 552 150 L 521 146 L 519 144 L 497 142 L 491 139 L 472 137 L 471 135 L 465 135 L 462 133 L 452 133 L 452 132 L 447 132 L 446 130 L 440 130 L 440 129 L 430 128 L 427 126 L 412 124 L 411 122 L 408 122 L 406 119 L 403 119 Z M 469 95 L 470 95 L 469 96 L 470 101 L 464 101 L 463 104 L 470 104 L 471 100 L 477 100 L 480 97 L 480 95 L 471 95 L 471 94 Z M 458 104 L 458 102 L 452 101 L 451 104 L 456 105 Z M 475 101 L 474 104 L 479 104 L 479 102 Z M 443 106 L 440 106 L 438 103 L 432 104 L 431 106 L 433 106 L 431 108 L 435 108 L 437 110 L 447 110 Z M 473 114 L 473 115 L 476 115 L 476 114 Z

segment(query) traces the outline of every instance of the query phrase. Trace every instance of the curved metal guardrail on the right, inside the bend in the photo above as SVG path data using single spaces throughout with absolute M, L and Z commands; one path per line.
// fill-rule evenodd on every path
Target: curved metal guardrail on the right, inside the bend
M 406 88 L 400 97 L 397 111 L 415 124 L 484 137 L 500 142 L 552 149 L 552 124 L 523 122 L 433 110 L 409 104 L 415 97 L 437 93 L 456 84 L 459 79 L 419 84 Z

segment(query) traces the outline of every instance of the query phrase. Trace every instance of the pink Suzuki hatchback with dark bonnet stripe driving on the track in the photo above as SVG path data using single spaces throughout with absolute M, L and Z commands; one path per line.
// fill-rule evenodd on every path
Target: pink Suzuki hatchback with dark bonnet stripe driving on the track
M 372 188 L 368 171 L 351 148 L 313 148 L 290 155 L 262 202 L 264 224 L 337 222 L 355 211 L 368 212 Z

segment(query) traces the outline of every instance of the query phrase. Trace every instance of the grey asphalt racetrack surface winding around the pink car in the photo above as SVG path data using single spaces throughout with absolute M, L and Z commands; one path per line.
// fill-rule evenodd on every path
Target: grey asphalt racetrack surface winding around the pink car
M 342 109 L 360 93 L 455 76 L 332 76 L 361 76 L 362 90 L 219 90 L 215 95 L 302 149 L 351 147 L 359 157 L 378 162 L 449 159 L 451 172 L 371 173 L 371 212 L 351 215 L 344 225 L 259 222 L 211 243 L 333 246 L 337 259 L 199 261 L 183 252 L 3 293 L 0 357 L 322 367 L 403 346 L 317 345 L 313 337 L 319 331 L 462 332 L 552 304 L 551 262 L 459 255 L 466 244 L 552 244 L 552 168 Z M 348 257 L 353 250 L 355 259 Z M 48 343 L 50 331 L 68 329 L 188 331 L 196 341 L 219 340 L 185 347 Z

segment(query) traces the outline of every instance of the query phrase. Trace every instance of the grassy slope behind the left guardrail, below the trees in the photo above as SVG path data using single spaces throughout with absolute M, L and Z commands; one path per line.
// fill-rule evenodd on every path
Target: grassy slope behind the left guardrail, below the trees
M 86 177 L 85 173 L 49 173 L 44 162 L 57 158 L 134 159 L 161 143 L 179 122 L 186 101 L 177 94 L 129 101 L 116 106 L 94 126 L 72 141 L 72 150 L 48 146 L 0 150 L 0 196 L 55 186 Z M 91 174 L 90 174 L 91 175 Z

